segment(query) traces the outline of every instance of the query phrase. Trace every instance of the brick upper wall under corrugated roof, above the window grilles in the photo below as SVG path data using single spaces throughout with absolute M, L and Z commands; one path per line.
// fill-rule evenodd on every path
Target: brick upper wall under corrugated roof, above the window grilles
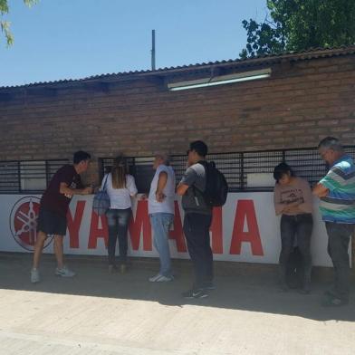
M 247 72 L 268 74 L 169 90 Z M 193 139 L 216 153 L 315 147 L 328 135 L 354 145 L 354 92 L 355 46 L 1 87 L 0 160 L 71 158 L 78 149 L 94 160 L 184 154 Z

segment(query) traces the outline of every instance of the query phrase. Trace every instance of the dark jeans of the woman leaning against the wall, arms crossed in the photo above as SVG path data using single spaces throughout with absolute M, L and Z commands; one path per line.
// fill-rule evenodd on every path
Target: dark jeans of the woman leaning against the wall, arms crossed
M 293 252 L 295 238 L 302 254 L 304 278 L 303 287 L 309 287 L 312 273 L 311 236 L 313 219 L 311 214 L 281 217 L 281 253 L 280 253 L 280 282 L 285 283 L 287 264 Z

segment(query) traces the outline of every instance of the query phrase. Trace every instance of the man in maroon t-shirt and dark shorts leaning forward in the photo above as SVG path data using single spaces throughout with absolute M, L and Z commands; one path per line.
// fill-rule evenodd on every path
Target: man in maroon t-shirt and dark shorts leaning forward
M 84 151 L 74 153 L 73 165 L 64 165 L 53 176 L 44 191 L 37 221 L 37 239 L 34 245 L 34 264 L 31 270 L 31 282 L 38 283 L 40 275 L 38 264 L 43 245 L 48 235 L 54 236 L 54 254 L 57 259 L 55 274 L 72 277 L 75 275 L 63 264 L 62 238 L 66 234 L 69 204 L 73 195 L 89 195 L 91 187 L 83 187 L 79 174 L 89 166 L 90 154 Z

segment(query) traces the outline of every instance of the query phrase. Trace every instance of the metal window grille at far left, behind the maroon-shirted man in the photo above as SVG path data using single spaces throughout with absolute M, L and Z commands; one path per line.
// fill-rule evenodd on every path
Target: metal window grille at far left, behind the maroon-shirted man
M 0 194 L 42 193 L 67 159 L 0 161 Z

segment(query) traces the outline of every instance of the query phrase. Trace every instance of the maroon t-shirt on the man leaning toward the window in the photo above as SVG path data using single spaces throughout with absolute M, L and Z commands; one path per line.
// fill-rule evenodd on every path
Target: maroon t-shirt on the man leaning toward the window
M 66 216 L 72 197 L 59 192 L 61 183 L 70 188 L 82 188 L 82 179 L 72 165 L 64 165 L 52 177 L 41 199 L 41 207 Z

